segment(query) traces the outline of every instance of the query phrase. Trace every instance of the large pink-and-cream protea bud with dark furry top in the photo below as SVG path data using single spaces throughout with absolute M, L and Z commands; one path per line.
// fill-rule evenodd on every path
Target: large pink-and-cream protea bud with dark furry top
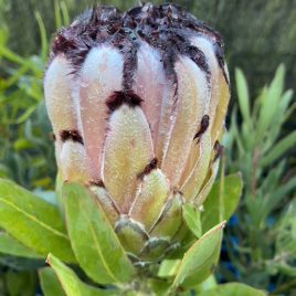
M 175 4 L 97 7 L 57 33 L 44 89 L 63 180 L 89 187 L 127 252 L 165 254 L 216 175 L 220 35 Z

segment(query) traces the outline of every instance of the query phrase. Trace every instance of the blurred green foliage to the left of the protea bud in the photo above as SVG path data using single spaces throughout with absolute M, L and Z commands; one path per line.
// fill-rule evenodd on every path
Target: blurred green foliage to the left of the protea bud
M 4 9 L 4 2 L 0 2 L 1 17 Z M 66 19 L 56 11 L 60 19 Z M 40 13 L 35 12 L 33 19 L 42 42 L 36 55 L 28 57 L 9 47 L 11 31 L 4 23 L 0 27 L 0 177 L 14 179 L 27 188 L 50 189 L 55 167 L 42 87 L 49 45 Z

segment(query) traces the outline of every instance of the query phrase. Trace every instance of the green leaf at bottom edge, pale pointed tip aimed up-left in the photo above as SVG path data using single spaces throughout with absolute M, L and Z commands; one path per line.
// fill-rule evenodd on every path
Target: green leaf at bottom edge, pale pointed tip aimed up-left
M 52 254 L 47 256 L 47 263 L 56 274 L 63 290 L 66 296 L 104 296 L 118 295 L 114 290 L 104 290 L 84 284 L 76 274 L 67 267 L 62 261 L 54 257 Z M 55 294 L 52 294 L 55 296 Z

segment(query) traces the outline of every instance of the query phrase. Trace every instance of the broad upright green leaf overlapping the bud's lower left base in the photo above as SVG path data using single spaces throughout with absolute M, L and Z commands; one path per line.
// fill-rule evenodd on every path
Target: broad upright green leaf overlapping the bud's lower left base
M 72 247 L 81 267 L 99 284 L 128 282 L 134 267 L 95 198 L 78 183 L 65 183 L 63 198 Z

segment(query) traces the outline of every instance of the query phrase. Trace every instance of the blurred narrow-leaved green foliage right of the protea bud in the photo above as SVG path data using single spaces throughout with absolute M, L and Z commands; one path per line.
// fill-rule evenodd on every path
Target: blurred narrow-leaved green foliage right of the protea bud
M 224 144 L 228 170 L 240 170 L 244 180 L 239 222 L 226 231 L 236 277 L 256 287 L 274 285 L 275 292 L 288 293 L 296 288 L 296 176 L 295 168 L 287 166 L 296 147 L 296 131 L 284 136 L 282 128 L 296 102 L 292 89 L 284 91 L 284 77 L 285 68 L 279 65 L 272 83 L 251 106 L 245 76 L 235 70 L 239 106 L 232 110 Z M 225 276 L 226 281 L 235 277 L 229 272 Z

